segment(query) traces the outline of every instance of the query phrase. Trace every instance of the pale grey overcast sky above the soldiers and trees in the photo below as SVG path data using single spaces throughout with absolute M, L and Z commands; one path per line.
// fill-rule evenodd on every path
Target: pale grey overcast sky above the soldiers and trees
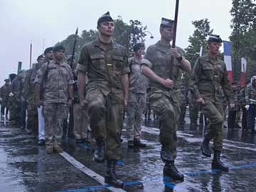
M 0 85 L 9 73 L 16 73 L 18 61 L 29 68 L 29 46 L 33 44 L 33 63 L 44 48 L 62 41 L 75 28 L 96 30 L 97 18 L 110 11 L 113 18 L 124 22 L 138 19 L 148 26 L 154 39 L 146 38 L 146 46 L 159 40 L 161 17 L 174 18 L 175 0 L 0 0 Z M 214 33 L 224 40 L 230 36 L 232 0 L 180 0 L 176 44 L 188 46 L 194 28 L 191 21 L 208 18 Z

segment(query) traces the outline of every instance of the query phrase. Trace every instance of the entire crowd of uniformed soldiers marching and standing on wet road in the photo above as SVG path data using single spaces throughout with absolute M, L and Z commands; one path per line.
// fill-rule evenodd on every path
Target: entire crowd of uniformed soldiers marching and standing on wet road
M 65 58 L 65 48 L 58 45 L 46 48 L 31 69 L 9 75 L 1 87 L 1 115 L 9 114 L 17 127 L 30 129 L 47 154 L 63 151 L 63 137 L 77 143 L 93 139 L 95 161 L 107 160 L 105 182 L 122 188 L 115 169 L 121 159 L 124 112 L 128 147 L 146 146 L 141 139 L 142 116 L 150 119 L 154 112 L 164 176 L 183 181 L 174 165 L 176 129 L 185 124 L 189 104 L 191 128 L 198 126 L 200 111 L 200 122 L 206 125 L 202 154 L 211 156 L 213 139 L 212 168 L 228 171 L 220 161 L 226 108 L 228 129 L 239 127 L 242 111 L 242 130 L 255 132 L 256 77 L 242 87 L 230 85 L 225 63 L 218 57 L 220 36 L 208 38 L 208 53 L 192 70 L 181 48 L 171 48 L 174 21 L 170 19 L 161 19 L 161 39 L 156 44 L 144 54 L 144 44 L 137 43 L 130 58 L 126 48 L 112 40 L 114 21 L 109 12 L 98 19 L 97 30 L 97 39 L 82 48 L 78 62 L 73 56 Z

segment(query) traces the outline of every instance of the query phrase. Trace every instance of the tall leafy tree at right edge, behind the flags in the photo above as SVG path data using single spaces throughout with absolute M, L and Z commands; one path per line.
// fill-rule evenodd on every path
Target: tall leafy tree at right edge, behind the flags
M 233 7 L 230 11 L 231 28 L 230 36 L 232 42 L 233 75 L 235 79 L 240 79 L 240 59 L 247 59 L 247 72 L 256 73 L 256 6 L 255 0 L 233 0 Z M 247 79 L 250 79 L 247 75 Z

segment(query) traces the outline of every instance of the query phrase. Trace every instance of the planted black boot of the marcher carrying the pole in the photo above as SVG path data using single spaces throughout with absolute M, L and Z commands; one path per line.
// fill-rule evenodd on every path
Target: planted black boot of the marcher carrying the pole
M 164 166 L 164 176 L 169 176 L 175 180 L 183 181 L 184 176 L 178 170 L 176 169 L 176 166 L 174 166 L 174 161 L 169 161 L 169 163 L 166 163 Z

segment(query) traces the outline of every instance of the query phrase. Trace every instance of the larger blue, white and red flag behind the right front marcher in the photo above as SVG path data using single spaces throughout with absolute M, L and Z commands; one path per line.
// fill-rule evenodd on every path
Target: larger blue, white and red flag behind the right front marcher
M 231 62 L 231 42 L 223 41 L 224 43 L 224 61 L 228 70 L 228 79 L 233 82 L 232 62 Z

